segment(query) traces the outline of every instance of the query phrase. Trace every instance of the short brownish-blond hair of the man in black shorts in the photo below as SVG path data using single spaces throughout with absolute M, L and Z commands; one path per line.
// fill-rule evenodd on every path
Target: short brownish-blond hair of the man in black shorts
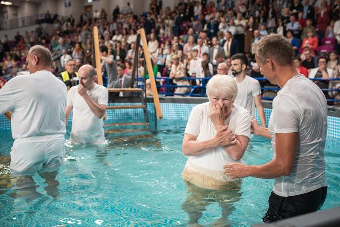
M 281 34 L 270 34 L 251 45 L 251 52 L 265 63 L 266 59 L 274 60 L 279 66 L 294 64 L 294 49 L 288 38 Z

